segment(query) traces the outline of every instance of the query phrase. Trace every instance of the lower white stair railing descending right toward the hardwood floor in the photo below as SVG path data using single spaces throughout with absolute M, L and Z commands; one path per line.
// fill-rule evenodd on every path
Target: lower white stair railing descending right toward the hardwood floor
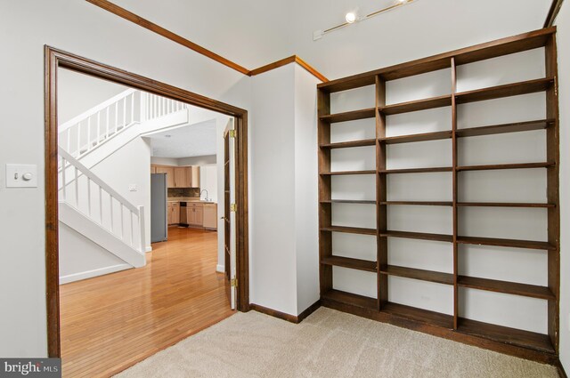
M 134 250 L 145 253 L 144 206 L 131 204 L 65 149 L 59 147 L 58 152 L 62 168 L 60 201 L 83 213 Z

